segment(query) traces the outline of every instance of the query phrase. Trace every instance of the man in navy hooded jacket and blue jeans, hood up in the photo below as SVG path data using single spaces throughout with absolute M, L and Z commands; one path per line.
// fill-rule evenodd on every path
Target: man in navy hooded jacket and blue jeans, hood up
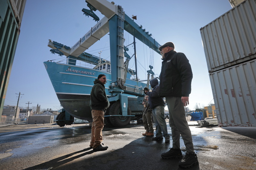
M 165 138 L 165 142 L 170 142 L 170 135 L 167 133 L 167 125 L 164 118 L 164 99 L 159 97 L 159 85 L 158 80 L 156 78 L 149 81 L 150 86 L 153 88 L 152 92 L 148 92 L 148 102 L 149 106 L 153 111 L 154 123 L 156 126 L 156 137 L 153 137 L 152 140 L 163 140 L 163 136 Z M 162 133 L 163 132 L 163 133 Z

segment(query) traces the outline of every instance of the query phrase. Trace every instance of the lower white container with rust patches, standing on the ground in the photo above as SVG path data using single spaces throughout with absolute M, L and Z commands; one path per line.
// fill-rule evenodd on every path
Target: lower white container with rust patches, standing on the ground
M 219 126 L 256 127 L 256 59 L 210 73 L 210 80 Z

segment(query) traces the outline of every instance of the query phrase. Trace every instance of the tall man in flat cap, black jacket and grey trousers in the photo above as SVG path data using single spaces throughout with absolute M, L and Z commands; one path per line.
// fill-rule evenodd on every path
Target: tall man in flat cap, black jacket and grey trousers
M 186 155 L 180 160 L 179 166 L 188 168 L 198 164 L 194 151 L 191 131 L 185 116 L 189 104 L 193 78 L 191 66 L 185 54 L 174 51 L 174 44 L 166 42 L 159 47 L 162 54 L 159 96 L 165 97 L 169 110 L 169 125 L 172 129 L 172 148 L 161 156 L 164 159 L 182 158 L 180 135 L 186 146 Z

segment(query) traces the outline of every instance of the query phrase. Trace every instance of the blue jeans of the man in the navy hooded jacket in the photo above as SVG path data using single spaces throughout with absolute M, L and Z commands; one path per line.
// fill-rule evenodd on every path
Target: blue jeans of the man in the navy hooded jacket
M 170 138 L 167 132 L 167 125 L 164 118 L 164 106 L 156 106 L 152 109 L 154 123 L 156 126 L 156 137 Z M 163 134 L 162 134 L 163 132 Z

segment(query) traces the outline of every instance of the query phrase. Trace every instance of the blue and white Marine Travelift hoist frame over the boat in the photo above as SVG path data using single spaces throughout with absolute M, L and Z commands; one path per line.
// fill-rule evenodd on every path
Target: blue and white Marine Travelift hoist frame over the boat
M 128 115 L 128 95 L 127 94 L 138 96 L 138 104 L 140 104 L 144 98 L 144 91 L 142 88 L 139 88 L 138 84 L 134 85 L 135 88 L 124 86 L 124 83 L 126 80 L 126 73 L 128 69 L 128 63 L 131 58 L 126 53 L 128 48 L 124 47 L 124 30 L 130 33 L 131 35 L 133 35 L 134 50 L 136 50 L 135 38 L 137 38 L 138 40 L 140 40 L 141 42 L 146 44 L 149 48 L 152 48 L 154 51 L 156 51 L 159 54 L 160 54 L 160 51 L 158 50 L 158 48 L 160 47 L 160 44 L 151 37 L 152 34 L 148 34 L 148 32 L 145 32 L 145 29 L 142 29 L 142 26 L 138 26 L 131 18 L 129 18 L 124 13 L 123 8 L 119 5 L 115 5 L 114 2 L 110 3 L 106 0 L 86 0 L 85 2 L 87 3 L 87 6 L 90 8 L 90 10 L 83 9 L 82 11 L 86 16 L 88 17 L 91 16 L 93 20 L 97 21 L 97 24 L 94 27 L 92 27 L 91 30 L 89 30 L 88 33 L 86 33 L 72 48 L 69 48 L 67 46 L 63 48 L 62 44 L 59 44 L 55 41 L 49 41 L 48 42 L 49 47 L 57 48 L 55 51 L 52 51 L 52 50 L 50 51 L 52 51 L 53 53 L 57 53 L 59 55 L 66 55 L 68 56 L 67 58 L 74 59 L 109 32 L 112 82 L 108 91 L 112 95 L 108 98 L 108 100 L 112 104 L 120 101 L 122 115 L 105 115 L 105 116 L 135 116 L 135 115 Z M 103 17 L 100 20 L 99 17 L 93 12 L 96 10 L 99 10 L 105 17 Z M 136 16 L 132 18 L 136 19 Z M 125 62 L 124 62 L 124 56 L 127 58 Z M 136 62 L 136 53 L 135 53 L 135 62 Z M 149 66 L 149 67 L 150 67 L 150 70 L 147 71 L 148 72 L 147 87 L 149 86 L 150 74 L 152 74 L 151 79 L 154 77 L 154 72 L 152 71 L 153 67 L 152 66 Z M 137 78 L 137 67 L 136 67 L 136 81 L 139 82 Z M 66 120 L 70 120 L 70 115 L 67 114 L 67 112 L 65 117 L 66 117 Z

